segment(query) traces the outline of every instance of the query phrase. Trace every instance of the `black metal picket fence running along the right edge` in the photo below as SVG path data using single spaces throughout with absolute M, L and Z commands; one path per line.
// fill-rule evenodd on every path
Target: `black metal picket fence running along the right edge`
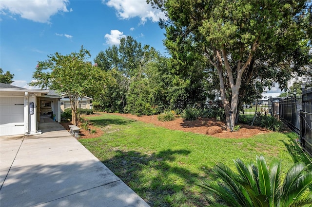
M 279 117 L 300 135 L 302 148 L 312 156 L 312 89 L 303 89 L 302 96 L 279 101 Z

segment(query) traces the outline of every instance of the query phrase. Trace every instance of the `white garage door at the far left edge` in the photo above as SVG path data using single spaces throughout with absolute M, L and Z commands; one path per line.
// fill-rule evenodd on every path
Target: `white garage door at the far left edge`
M 24 97 L 0 97 L 0 136 L 24 133 Z

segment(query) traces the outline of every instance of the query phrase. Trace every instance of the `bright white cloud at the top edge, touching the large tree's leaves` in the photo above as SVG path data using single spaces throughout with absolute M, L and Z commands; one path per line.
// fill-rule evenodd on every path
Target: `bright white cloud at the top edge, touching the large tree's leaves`
M 144 24 L 147 19 L 157 22 L 159 18 L 166 19 L 163 12 L 153 9 L 151 4 L 145 0 L 103 0 L 107 6 L 117 10 L 117 16 L 121 19 L 140 17 L 141 23 Z

